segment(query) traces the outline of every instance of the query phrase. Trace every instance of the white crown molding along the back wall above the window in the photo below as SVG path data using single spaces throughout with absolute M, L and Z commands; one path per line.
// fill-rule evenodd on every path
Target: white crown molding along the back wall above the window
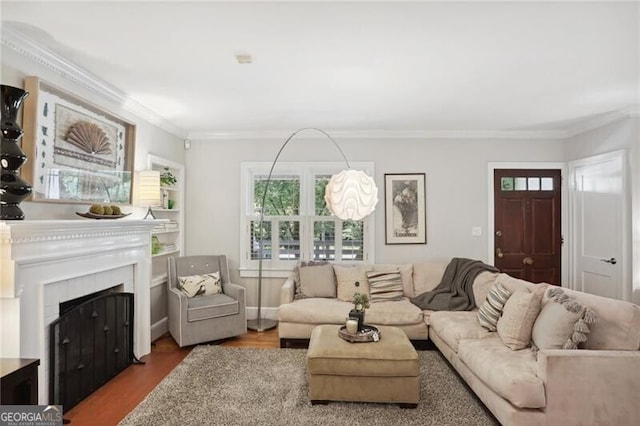
M 191 140 L 282 139 L 294 130 L 190 132 Z M 327 130 L 340 139 L 564 139 L 564 130 Z M 321 135 L 305 135 L 309 139 Z

